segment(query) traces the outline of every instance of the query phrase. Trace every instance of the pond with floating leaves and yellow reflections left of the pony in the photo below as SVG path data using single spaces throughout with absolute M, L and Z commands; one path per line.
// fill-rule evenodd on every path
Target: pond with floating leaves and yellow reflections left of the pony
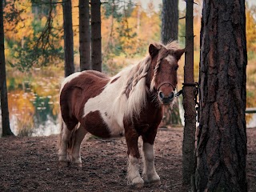
M 62 70 L 7 71 L 10 128 L 18 136 L 58 134 Z

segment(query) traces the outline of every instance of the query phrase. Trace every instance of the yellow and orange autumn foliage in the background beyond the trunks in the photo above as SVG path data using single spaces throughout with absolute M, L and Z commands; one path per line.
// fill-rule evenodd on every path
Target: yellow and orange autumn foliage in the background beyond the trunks
M 47 1 L 44 1 L 47 2 Z M 62 4 L 42 1 L 6 0 L 4 29 L 7 70 L 30 70 L 31 67 L 54 66 L 63 69 Z M 198 81 L 202 2 L 194 5 L 194 74 Z M 78 0 L 72 1 L 74 30 L 74 63 L 79 70 Z M 185 2 L 183 2 L 185 3 Z M 115 74 L 126 65 L 137 62 L 147 54 L 150 42 L 159 42 L 161 33 L 161 5 L 150 1 L 143 8 L 139 1 L 108 1 L 102 3 L 102 67 Z M 180 18 L 186 10 L 180 10 Z M 247 106 L 255 103 L 256 91 L 256 7 L 246 6 L 246 38 L 248 52 Z M 179 42 L 185 45 L 185 20 L 179 20 Z M 47 34 L 49 34 L 47 36 Z M 41 40 L 41 41 L 38 41 Z M 183 58 L 182 58 L 183 59 Z M 179 87 L 183 82 L 183 62 L 179 67 Z M 14 67 L 11 68 L 10 66 Z M 56 67 L 57 66 L 57 67 Z

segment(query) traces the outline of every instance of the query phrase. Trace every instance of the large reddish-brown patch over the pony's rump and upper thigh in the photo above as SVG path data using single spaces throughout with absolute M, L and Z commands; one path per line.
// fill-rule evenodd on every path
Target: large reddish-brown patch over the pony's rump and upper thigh
M 63 121 L 69 130 L 73 130 L 74 126 L 81 122 L 83 109 L 88 99 L 101 94 L 109 81 L 110 78 L 106 74 L 87 70 L 63 86 L 60 106 Z

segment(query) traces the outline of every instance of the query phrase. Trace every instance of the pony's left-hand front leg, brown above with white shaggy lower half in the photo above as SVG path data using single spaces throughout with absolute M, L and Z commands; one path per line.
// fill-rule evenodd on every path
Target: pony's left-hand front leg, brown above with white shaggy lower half
M 127 179 L 128 185 L 142 187 L 144 181 L 139 174 L 138 164 L 139 164 L 139 151 L 138 151 L 138 133 L 134 128 L 129 127 L 126 130 L 126 143 L 128 147 L 128 169 L 127 169 Z

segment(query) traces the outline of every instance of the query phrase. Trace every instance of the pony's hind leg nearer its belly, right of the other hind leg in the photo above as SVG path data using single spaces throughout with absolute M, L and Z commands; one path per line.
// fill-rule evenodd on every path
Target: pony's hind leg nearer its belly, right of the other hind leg
M 74 146 L 72 150 L 72 162 L 77 166 L 82 166 L 82 159 L 80 154 L 80 146 L 83 138 L 87 134 L 87 130 L 81 124 L 74 133 Z

